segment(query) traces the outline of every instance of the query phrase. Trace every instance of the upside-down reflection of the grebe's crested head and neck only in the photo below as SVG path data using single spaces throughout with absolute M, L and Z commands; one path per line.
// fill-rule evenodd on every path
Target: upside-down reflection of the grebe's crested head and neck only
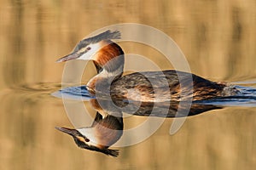
M 123 134 L 122 116 L 102 115 L 96 112 L 94 122 L 90 127 L 81 127 L 78 129 L 67 127 L 55 127 L 63 133 L 71 135 L 75 143 L 83 149 L 95 150 L 108 156 L 118 156 L 118 150 L 108 149 L 120 139 Z

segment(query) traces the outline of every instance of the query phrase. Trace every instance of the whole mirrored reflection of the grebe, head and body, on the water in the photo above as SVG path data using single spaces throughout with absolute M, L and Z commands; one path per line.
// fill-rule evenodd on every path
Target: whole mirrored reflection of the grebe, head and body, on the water
M 177 108 L 179 109 L 178 116 L 195 116 L 205 111 L 221 109 L 221 107 L 215 105 L 192 103 L 188 113 L 186 105 L 182 105 L 184 107 L 183 112 L 183 108 L 180 108 L 181 105 L 178 105 L 178 102 L 170 104 L 170 101 L 159 102 L 156 105 L 152 102 L 132 102 L 129 103 L 128 107 L 125 107 L 127 106 L 125 100 L 119 100 L 118 103 L 115 103 L 117 107 L 109 100 L 102 100 L 100 103 L 101 105 L 98 99 L 90 99 L 90 104 L 96 110 L 95 121 L 90 127 L 80 127 L 77 129 L 67 127 L 55 128 L 71 135 L 80 148 L 94 150 L 108 156 L 119 156 L 119 150 L 112 150 L 109 147 L 115 144 L 123 135 L 123 112 L 135 116 L 174 117 L 177 116 Z

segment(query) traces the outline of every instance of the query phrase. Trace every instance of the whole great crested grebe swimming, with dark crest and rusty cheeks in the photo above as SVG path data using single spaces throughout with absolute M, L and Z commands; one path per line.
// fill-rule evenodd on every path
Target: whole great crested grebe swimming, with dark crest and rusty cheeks
M 90 94 L 101 93 L 106 90 L 106 84 L 110 83 L 109 90 L 114 99 L 155 102 L 155 94 L 158 94 L 158 101 L 180 101 L 191 97 L 195 101 L 238 93 L 236 88 L 225 83 L 212 82 L 183 71 L 145 71 L 123 76 L 125 54 L 117 43 L 111 41 L 119 38 L 119 31 L 108 30 L 95 37 L 83 39 L 71 54 L 58 59 L 57 62 L 70 59 L 93 60 L 98 74 L 87 83 Z M 192 77 L 193 82 L 189 81 L 189 77 Z M 154 80 L 154 83 L 150 80 Z M 167 88 L 162 80 L 167 82 Z M 137 93 L 129 93 L 130 89 L 136 90 Z

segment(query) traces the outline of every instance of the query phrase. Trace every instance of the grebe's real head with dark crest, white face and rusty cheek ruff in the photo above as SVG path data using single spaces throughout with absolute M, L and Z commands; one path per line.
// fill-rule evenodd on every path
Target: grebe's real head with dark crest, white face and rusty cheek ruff
M 95 37 L 86 38 L 78 43 L 71 54 L 58 59 L 63 62 L 71 59 L 94 60 L 96 67 L 104 67 L 107 71 L 114 71 L 124 65 L 124 52 L 111 39 L 120 39 L 119 31 L 105 31 Z M 110 62 L 108 64 L 108 62 Z M 113 63 L 113 64 L 111 64 Z

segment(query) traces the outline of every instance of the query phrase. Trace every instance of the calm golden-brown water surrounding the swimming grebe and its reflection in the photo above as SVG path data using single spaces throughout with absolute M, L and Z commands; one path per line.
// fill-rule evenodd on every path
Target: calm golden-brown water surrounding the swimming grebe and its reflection
M 174 135 L 172 119 L 147 140 L 119 148 L 113 158 L 79 149 L 55 126 L 72 127 L 61 99 L 68 54 L 104 26 L 135 22 L 154 26 L 177 42 L 191 71 L 212 81 L 256 88 L 256 3 L 249 1 L 7 1 L 0 0 L 1 169 L 254 169 L 256 109 L 232 106 L 186 119 Z M 125 52 L 171 68 L 151 49 L 123 44 Z M 136 48 L 135 48 L 136 47 Z M 89 65 L 83 82 L 95 74 Z M 255 102 L 255 101 L 254 101 Z M 90 114 L 95 111 L 85 103 Z M 74 111 L 79 119 L 79 111 Z M 125 118 L 136 127 L 141 116 Z M 82 120 L 81 125 L 83 124 Z

